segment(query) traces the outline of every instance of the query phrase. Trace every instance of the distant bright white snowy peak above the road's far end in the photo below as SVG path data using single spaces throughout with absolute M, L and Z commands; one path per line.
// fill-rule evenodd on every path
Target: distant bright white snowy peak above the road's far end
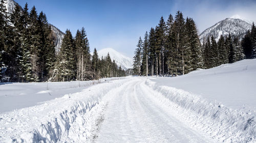
M 112 49 L 112 48 L 104 48 L 98 51 L 99 58 L 101 56 L 106 56 L 110 53 L 111 60 L 115 60 L 118 66 L 121 66 L 122 69 L 127 70 L 133 68 L 133 60 L 120 52 Z

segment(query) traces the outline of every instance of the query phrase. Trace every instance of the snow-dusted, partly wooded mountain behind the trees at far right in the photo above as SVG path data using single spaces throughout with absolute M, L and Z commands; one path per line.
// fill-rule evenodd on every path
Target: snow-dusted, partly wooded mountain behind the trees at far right
M 207 28 L 199 35 L 200 42 L 206 42 L 207 37 L 214 36 L 215 40 L 218 41 L 220 36 L 224 37 L 230 34 L 232 37 L 236 36 L 242 39 L 245 33 L 251 29 L 252 23 L 248 20 L 244 20 L 238 15 L 226 18 L 215 25 Z

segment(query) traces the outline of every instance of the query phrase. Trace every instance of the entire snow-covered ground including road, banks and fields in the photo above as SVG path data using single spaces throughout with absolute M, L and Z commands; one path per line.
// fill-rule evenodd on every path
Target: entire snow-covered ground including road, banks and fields
M 256 59 L 179 77 L 2 84 L 0 142 L 256 142 L 255 75 Z

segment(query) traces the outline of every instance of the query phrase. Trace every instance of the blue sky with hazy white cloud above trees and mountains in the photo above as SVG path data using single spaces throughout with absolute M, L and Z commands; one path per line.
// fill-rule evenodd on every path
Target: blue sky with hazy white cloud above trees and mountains
M 167 20 L 178 10 L 184 17 L 196 21 L 199 34 L 206 28 L 233 15 L 240 15 L 256 21 L 256 0 L 254 1 L 97 1 L 97 0 L 16 0 L 24 7 L 34 5 L 37 12 L 46 13 L 48 21 L 62 32 L 85 27 L 91 50 L 114 48 L 132 58 L 140 36 L 155 27 L 161 16 Z

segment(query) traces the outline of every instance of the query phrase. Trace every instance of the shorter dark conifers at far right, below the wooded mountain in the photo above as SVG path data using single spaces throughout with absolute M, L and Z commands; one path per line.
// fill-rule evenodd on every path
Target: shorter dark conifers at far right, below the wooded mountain
M 251 30 L 240 41 L 229 34 L 226 38 L 222 35 L 218 42 L 211 36 L 203 44 L 204 68 L 212 68 L 221 64 L 234 63 L 243 59 L 256 58 L 256 29 L 252 23 Z

